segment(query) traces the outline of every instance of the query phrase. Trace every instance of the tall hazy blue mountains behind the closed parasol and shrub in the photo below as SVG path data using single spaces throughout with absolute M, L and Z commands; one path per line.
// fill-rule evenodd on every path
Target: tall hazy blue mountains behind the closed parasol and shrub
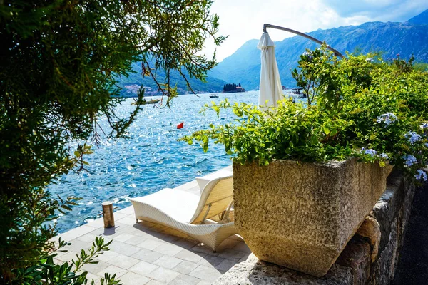
M 327 42 L 343 54 L 356 50 L 362 53 L 378 51 L 385 60 L 392 60 L 397 53 L 401 58 L 410 58 L 413 54 L 416 61 L 428 62 L 428 10 L 405 23 L 368 22 L 360 26 L 342 26 L 307 34 Z M 260 51 L 256 48 L 257 43 L 258 40 L 246 42 L 208 74 L 223 81 L 241 83 L 247 90 L 257 89 L 260 81 Z M 299 56 L 306 48 L 313 49 L 319 45 L 301 36 L 285 38 L 275 42 L 275 45 L 282 85 L 294 87 L 291 70 L 297 66 Z

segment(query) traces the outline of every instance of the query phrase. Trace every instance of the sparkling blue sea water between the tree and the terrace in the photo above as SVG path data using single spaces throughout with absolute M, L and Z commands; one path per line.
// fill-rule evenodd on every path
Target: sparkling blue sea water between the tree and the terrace
M 210 144 L 204 153 L 200 145 L 177 142 L 183 135 L 208 128 L 210 123 L 223 124 L 233 120 L 230 113 L 199 113 L 205 103 L 220 102 L 228 98 L 231 102 L 257 103 L 258 91 L 246 93 L 180 95 L 168 108 L 153 108 L 146 105 L 138 119 L 129 128 L 130 139 L 101 140 L 88 155 L 87 172 L 70 172 L 56 185 L 51 185 L 52 195 L 83 198 L 73 211 L 58 219 L 57 229 L 66 232 L 73 227 L 96 219 L 101 203 L 113 201 L 118 208 L 128 207 L 130 197 L 157 192 L 165 187 L 177 187 L 195 177 L 206 175 L 231 164 L 223 145 Z M 127 99 L 116 109 L 118 115 L 126 116 L 133 110 L 133 99 Z M 176 125 L 184 122 L 184 128 Z M 101 125 L 106 122 L 101 120 Z

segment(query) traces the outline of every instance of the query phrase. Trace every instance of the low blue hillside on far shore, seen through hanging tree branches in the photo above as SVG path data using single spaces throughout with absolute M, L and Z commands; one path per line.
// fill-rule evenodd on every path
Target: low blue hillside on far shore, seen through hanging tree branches
M 121 95 L 123 97 L 135 97 L 140 88 L 141 84 L 146 88 L 145 95 L 160 95 L 158 87 L 152 78 L 141 76 L 141 62 L 132 63 L 132 68 L 135 73 L 131 73 L 128 77 L 121 76 L 116 78 L 118 80 L 118 86 L 122 88 Z M 187 75 L 187 74 L 186 74 Z M 157 77 L 160 83 L 163 83 L 165 78 L 165 72 L 158 71 Z M 196 93 L 214 93 L 223 90 L 223 86 L 227 84 L 225 81 L 208 76 L 206 83 L 196 79 L 188 77 L 190 86 Z M 188 92 L 185 80 L 180 76 L 178 71 L 170 72 L 170 84 L 171 86 L 177 86 L 178 94 L 184 94 Z

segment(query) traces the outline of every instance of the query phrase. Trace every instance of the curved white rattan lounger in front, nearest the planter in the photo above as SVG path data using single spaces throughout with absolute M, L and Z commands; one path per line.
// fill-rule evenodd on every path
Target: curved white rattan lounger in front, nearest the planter
M 233 203 L 231 175 L 208 182 L 200 196 L 165 188 L 151 195 L 133 198 L 131 202 L 137 222 L 141 219 L 177 229 L 208 245 L 213 251 L 223 240 L 238 233 L 234 222 L 228 222 Z

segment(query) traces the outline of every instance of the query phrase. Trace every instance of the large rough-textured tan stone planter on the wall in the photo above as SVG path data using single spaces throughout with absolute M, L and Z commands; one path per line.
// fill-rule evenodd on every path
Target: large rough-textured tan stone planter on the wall
M 234 163 L 235 227 L 259 259 L 323 276 L 384 192 L 391 170 L 355 158 Z

